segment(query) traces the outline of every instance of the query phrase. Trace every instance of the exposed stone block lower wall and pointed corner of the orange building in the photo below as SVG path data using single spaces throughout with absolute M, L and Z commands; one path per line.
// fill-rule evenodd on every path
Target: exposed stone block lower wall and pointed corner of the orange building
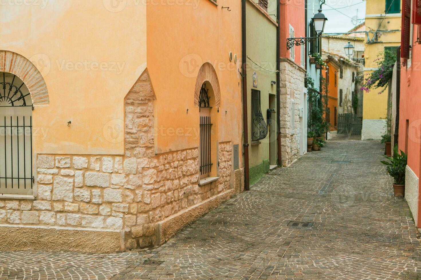
M 122 230 L 125 248 L 154 245 L 156 224 L 232 189 L 232 143 L 217 181 L 199 185 L 198 148 L 154 152 L 154 92 L 145 72 L 125 98 L 125 154 L 37 155 L 36 200 L 0 200 L 0 224 Z

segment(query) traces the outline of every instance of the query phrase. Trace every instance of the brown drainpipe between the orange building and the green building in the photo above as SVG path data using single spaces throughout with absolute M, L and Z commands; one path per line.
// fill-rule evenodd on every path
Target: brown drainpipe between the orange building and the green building
M 242 34 L 242 125 L 244 130 L 244 189 L 250 190 L 249 182 L 249 165 L 248 165 L 248 111 L 247 111 L 247 71 L 246 71 L 246 22 L 245 22 L 245 7 L 246 0 L 241 0 L 241 34 Z

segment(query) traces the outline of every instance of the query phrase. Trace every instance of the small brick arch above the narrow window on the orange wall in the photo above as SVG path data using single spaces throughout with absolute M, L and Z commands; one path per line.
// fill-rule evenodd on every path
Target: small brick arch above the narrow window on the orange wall
M 199 95 L 200 89 L 205 81 L 208 81 L 213 89 L 213 94 L 215 94 L 215 105 L 216 107 L 221 107 L 221 89 L 219 88 L 218 76 L 216 75 L 215 68 L 212 64 L 206 62 L 204 63 L 197 74 L 196 86 L 195 86 L 195 106 L 199 106 Z

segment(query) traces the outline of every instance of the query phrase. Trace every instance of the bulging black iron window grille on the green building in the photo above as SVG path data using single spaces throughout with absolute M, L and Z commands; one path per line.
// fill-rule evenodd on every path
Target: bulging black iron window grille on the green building
M 251 90 L 251 141 L 259 141 L 267 136 L 267 125 L 261 112 L 260 91 Z

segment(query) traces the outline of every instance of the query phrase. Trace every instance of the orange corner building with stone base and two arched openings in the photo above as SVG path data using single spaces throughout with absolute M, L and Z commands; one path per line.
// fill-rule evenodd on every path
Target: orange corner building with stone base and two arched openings
M 0 51 L 0 74 L 17 95 L 2 95 L 0 104 L 7 136 L 0 137 L 0 249 L 155 246 L 242 191 L 241 76 L 228 57 L 241 52 L 240 26 L 200 21 L 203 26 L 192 27 L 187 18 L 196 12 L 222 18 L 224 11 L 208 2 L 198 10 L 126 3 L 116 11 L 93 2 L 83 9 L 80 3 L 28 6 L 21 8 L 25 20 L 6 21 L 11 32 L 0 31 L 0 50 L 16 52 Z M 230 16 L 240 21 L 240 3 L 231 8 Z M 82 21 L 73 9 L 82 11 Z M 60 26 L 53 16 L 58 10 L 72 29 L 93 29 L 58 40 L 63 30 L 51 27 Z M 7 7 L 0 11 L 3 18 L 9 13 Z M 186 20 L 174 25 L 181 14 Z M 109 24 L 111 15 L 116 20 Z M 22 38 L 11 34 L 29 22 L 43 30 L 42 18 L 53 18 L 48 34 L 25 37 L 27 44 L 16 47 Z M 180 38 L 180 26 L 186 37 L 197 29 L 220 29 L 215 39 L 226 45 L 208 45 L 204 33 L 197 41 Z M 72 40 L 84 48 L 76 50 Z M 185 48 L 168 50 L 162 40 L 184 42 Z M 124 65 L 118 73 L 116 65 Z

